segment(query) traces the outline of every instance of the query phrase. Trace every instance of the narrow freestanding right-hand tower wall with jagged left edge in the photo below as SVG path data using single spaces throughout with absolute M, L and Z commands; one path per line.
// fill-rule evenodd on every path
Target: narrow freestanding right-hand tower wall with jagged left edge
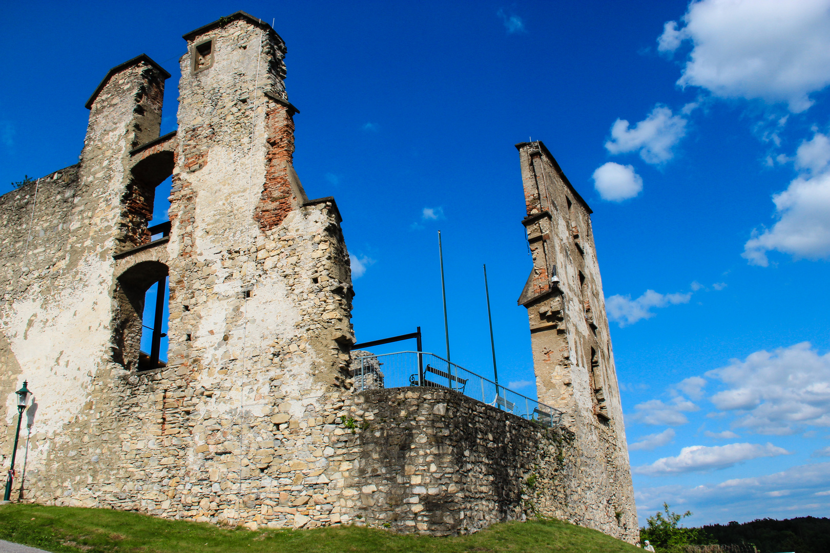
M 539 400 L 563 411 L 586 482 L 586 526 L 637 529 L 637 513 L 591 208 L 544 147 L 519 150 L 533 269 L 519 298 L 530 319 Z M 614 521 L 614 519 L 617 519 Z

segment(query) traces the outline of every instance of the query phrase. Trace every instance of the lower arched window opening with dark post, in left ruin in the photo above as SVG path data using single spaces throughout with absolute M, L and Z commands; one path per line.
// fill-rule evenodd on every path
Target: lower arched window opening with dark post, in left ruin
M 168 268 L 143 261 L 127 269 L 116 287 L 113 361 L 128 371 L 167 365 Z

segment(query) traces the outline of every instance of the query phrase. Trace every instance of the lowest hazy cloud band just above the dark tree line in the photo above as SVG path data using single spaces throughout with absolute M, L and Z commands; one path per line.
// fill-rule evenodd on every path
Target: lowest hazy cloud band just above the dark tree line
M 689 525 L 711 521 L 826 517 L 830 510 L 830 463 L 808 463 L 781 473 L 735 478 L 686 488 L 680 485 L 641 487 L 635 492 L 637 512 L 651 515 L 663 502 L 690 509 Z M 680 509 L 677 509 L 678 511 Z M 642 522 L 645 522 L 642 520 Z

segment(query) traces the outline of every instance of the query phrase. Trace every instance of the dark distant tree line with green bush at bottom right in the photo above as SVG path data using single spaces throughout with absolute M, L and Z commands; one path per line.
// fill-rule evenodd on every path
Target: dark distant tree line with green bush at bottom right
M 830 518 L 773 518 L 751 522 L 712 524 L 700 528 L 680 526 L 691 512 L 663 511 L 647 518 L 640 529 L 641 544 L 648 540 L 657 553 L 827 553 L 830 551 Z

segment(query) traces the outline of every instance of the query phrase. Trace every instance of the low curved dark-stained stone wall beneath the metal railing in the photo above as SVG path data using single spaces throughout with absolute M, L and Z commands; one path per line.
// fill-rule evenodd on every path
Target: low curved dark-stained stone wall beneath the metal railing
M 350 410 L 354 521 L 444 535 L 543 516 L 636 539 L 627 475 L 596 473 L 569 429 L 421 387 L 359 392 Z

